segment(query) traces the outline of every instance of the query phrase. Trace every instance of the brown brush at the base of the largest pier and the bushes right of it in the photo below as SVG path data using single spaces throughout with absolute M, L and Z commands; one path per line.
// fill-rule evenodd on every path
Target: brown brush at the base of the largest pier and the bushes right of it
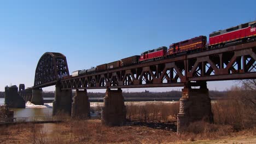
M 217 139 L 231 136 L 234 131 L 256 135 L 256 80 L 241 81 L 241 87 L 232 87 L 226 94 L 228 100 L 213 101 L 214 124 L 191 123 L 185 135 L 191 140 Z M 194 135 L 194 136 L 193 136 Z

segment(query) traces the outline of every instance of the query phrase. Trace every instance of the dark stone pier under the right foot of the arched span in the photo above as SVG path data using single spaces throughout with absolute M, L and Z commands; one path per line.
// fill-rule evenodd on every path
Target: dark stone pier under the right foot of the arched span
M 71 116 L 72 90 L 61 90 L 59 83 L 55 86 L 55 100 L 53 101 L 53 116 L 67 114 Z

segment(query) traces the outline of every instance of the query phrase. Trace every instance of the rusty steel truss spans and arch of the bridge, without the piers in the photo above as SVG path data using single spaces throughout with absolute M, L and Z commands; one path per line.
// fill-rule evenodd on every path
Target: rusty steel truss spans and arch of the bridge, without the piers
M 66 57 L 45 53 L 33 88 L 61 84 L 61 89 L 183 87 L 187 82 L 256 79 L 256 41 L 177 55 L 94 74 L 68 76 Z

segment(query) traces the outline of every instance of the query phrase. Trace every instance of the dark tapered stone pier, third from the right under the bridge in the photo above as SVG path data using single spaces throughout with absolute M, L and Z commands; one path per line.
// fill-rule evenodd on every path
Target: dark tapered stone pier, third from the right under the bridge
M 73 118 L 89 118 L 90 117 L 90 102 L 86 89 L 84 91 L 75 91 L 74 101 L 72 103 Z

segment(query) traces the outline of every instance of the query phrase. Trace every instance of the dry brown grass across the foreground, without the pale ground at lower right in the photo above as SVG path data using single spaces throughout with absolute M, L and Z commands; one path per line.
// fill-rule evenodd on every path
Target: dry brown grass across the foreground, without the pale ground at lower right
M 0 139 L 5 139 L 2 143 L 181 143 L 226 139 L 237 135 L 252 137 L 256 134 L 256 129 L 232 133 L 230 126 L 196 122 L 188 127 L 187 133 L 177 135 L 173 131 L 147 125 L 106 127 L 97 119 L 57 124 L 18 124 L 0 128 L 5 131 L 0 136 Z

